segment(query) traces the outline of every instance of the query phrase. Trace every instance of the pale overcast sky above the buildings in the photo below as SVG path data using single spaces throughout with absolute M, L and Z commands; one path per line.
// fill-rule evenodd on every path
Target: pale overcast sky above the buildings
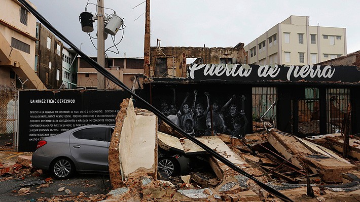
M 96 56 L 87 33 L 81 30 L 79 15 L 85 11 L 87 0 L 30 0 L 38 12 L 58 31 L 90 56 Z M 104 0 L 104 7 L 111 8 L 124 18 L 124 38 L 118 45 L 119 54 L 107 52 L 112 57 L 143 57 L 145 33 L 144 0 Z M 96 0 L 89 0 L 96 4 Z M 137 6 L 138 4 L 141 4 Z M 136 8 L 134 8 L 137 6 Z M 184 47 L 234 47 L 239 42 L 247 45 L 255 38 L 280 23 L 290 15 L 309 16 L 310 26 L 345 27 L 347 53 L 360 50 L 360 26 L 358 0 L 152 0 L 151 46 L 156 39 L 161 46 Z M 89 12 L 95 14 L 96 6 L 89 4 Z M 105 9 L 106 14 L 113 11 Z M 140 17 L 139 17 L 140 16 Z M 137 19 L 136 19 L 137 18 Z M 135 20 L 136 19 L 136 20 Z M 96 22 L 94 23 L 96 26 Z M 91 33 L 96 37 L 95 31 Z M 119 42 L 122 32 L 115 36 Z M 96 40 L 94 41 L 96 46 Z M 105 41 L 105 49 L 112 45 L 111 37 Z M 65 45 L 69 47 L 68 45 Z M 116 49 L 112 49 L 116 52 Z

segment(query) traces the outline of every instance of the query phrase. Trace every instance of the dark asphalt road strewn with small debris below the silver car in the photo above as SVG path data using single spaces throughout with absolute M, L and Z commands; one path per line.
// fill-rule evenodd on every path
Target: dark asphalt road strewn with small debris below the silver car
M 59 201 L 86 201 L 86 198 L 96 194 L 106 194 L 109 192 L 111 183 L 109 175 L 95 174 L 76 174 L 73 178 L 67 180 L 52 179 L 43 185 L 21 186 L 25 181 L 38 182 L 50 178 L 49 174 L 41 174 L 39 177 L 27 175 L 25 179 L 7 179 L 0 178 L 0 201 L 6 202 L 25 202 L 37 201 L 39 198 L 51 198 L 57 196 Z M 65 191 L 59 192 L 58 189 L 64 187 L 71 190 L 72 194 L 66 194 Z M 21 188 L 30 188 L 29 194 L 18 194 Z M 84 195 L 81 197 L 73 197 L 75 199 L 65 200 L 70 196 L 79 196 L 80 192 Z M 59 196 L 62 195 L 62 196 Z M 49 201 L 49 200 L 44 200 Z M 51 200 L 50 200 L 51 201 Z

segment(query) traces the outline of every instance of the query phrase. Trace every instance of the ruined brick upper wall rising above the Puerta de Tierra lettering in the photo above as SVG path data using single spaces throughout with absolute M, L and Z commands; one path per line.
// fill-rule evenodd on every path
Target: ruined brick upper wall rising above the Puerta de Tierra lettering
M 219 64 L 220 58 L 232 58 L 232 63 L 245 64 L 246 52 L 244 44 L 235 47 L 151 47 L 150 48 L 150 77 L 186 77 L 186 59 L 201 58 L 203 64 Z M 155 74 L 158 58 L 166 58 L 167 73 Z

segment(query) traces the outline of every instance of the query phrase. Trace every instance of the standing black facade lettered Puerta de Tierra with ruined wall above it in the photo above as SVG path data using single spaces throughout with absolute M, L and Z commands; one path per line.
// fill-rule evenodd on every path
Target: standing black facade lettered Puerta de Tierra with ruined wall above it
M 242 43 L 234 48 L 158 46 L 150 50 L 144 87 L 150 102 L 167 115 L 171 115 L 170 106 L 174 114 L 179 111 L 184 116 L 184 104 L 192 109 L 190 113 L 201 105 L 202 111 L 209 108 L 204 113 L 206 130 L 212 127 L 230 135 L 238 118 L 242 135 L 268 126 L 305 137 L 340 132 L 350 105 L 351 132 L 360 133 L 356 124 L 360 111 L 355 110 L 360 107 L 356 102 L 360 71 L 356 66 L 244 65 Z M 185 65 L 189 58 L 195 60 Z M 235 116 L 230 114 L 232 107 Z M 214 118 L 221 116 L 212 126 L 210 111 Z M 184 128 L 184 117 L 177 124 Z

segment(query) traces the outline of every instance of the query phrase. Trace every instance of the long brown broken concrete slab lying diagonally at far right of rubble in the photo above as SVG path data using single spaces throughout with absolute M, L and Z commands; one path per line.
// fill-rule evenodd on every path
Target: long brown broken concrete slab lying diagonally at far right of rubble
M 272 130 L 268 140 L 286 159 L 298 160 L 320 174 L 324 182 L 342 182 L 341 173 L 355 170 L 357 167 L 344 163 L 334 157 L 317 155 L 307 149 L 294 136 L 278 130 Z

